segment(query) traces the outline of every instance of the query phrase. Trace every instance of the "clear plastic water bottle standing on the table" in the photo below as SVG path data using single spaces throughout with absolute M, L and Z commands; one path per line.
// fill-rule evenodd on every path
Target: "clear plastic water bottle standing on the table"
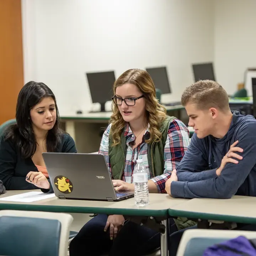
M 138 159 L 133 171 L 135 205 L 145 206 L 149 203 L 148 172 L 143 166 L 142 159 Z

